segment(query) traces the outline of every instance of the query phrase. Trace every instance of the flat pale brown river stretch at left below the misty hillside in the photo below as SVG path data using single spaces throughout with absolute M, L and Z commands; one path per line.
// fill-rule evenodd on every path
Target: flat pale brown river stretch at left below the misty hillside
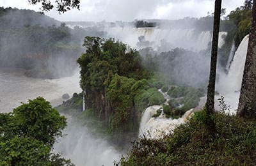
M 44 97 L 55 107 L 63 100 L 61 96 L 68 93 L 80 93 L 79 70 L 72 77 L 61 79 L 36 79 L 24 76 L 25 70 L 0 68 L 0 108 L 1 112 L 10 112 L 20 102 L 28 102 L 38 96 Z

